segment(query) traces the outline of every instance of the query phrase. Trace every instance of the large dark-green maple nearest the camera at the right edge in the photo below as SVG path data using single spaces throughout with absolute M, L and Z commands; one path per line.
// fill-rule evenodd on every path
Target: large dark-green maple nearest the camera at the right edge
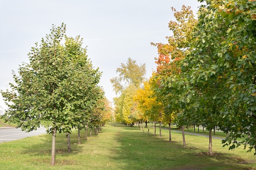
M 201 2 L 206 5 L 198 15 L 198 41 L 182 68 L 190 94 L 200 96 L 196 100 L 206 111 L 208 129 L 215 120 L 221 130 L 231 132 L 225 145 L 233 143 L 231 149 L 249 144 L 249 150 L 256 149 L 256 1 Z M 186 99 L 195 101 L 193 95 Z M 238 142 L 244 134 L 249 137 Z

